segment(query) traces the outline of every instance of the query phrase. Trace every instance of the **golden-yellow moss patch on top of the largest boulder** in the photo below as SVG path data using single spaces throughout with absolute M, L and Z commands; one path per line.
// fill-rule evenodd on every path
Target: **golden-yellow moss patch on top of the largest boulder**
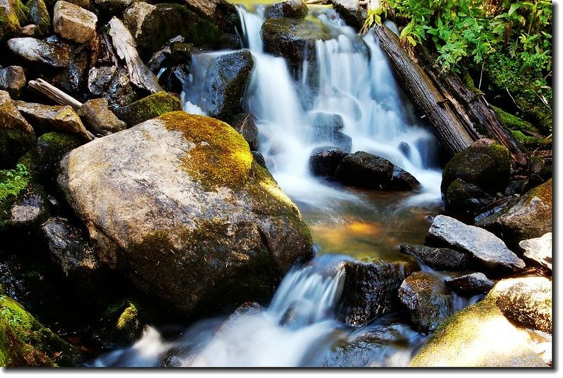
M 196 144 L 182 160 L 190 176 L 204 187 L 238 189 L 247 182 L 252 154 L 247 141 L 225 122 L 182 111 L 157 118 L 168 130 L 182 132 Z

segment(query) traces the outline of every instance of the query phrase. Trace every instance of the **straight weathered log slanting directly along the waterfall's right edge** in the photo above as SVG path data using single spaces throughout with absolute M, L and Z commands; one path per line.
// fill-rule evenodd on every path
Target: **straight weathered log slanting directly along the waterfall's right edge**
M 409 57 L 397 35 L 385 25 L 376 25 L 373 29 L 397 82 L 414 105 L 426 115 L 433 134 L 445 151 L 453 156 L 479 139 L 481 136 L 476 131 L 469 133 L 466 130 L 466 122 L 460 119 L 450 99 L 443 96 L 433 80 Z

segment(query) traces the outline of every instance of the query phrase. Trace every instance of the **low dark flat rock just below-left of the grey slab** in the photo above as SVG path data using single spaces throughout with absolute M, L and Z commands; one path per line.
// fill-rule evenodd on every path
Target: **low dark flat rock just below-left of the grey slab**
M 435 248 L 401 244 L 401 252 L 408 253 L 435 270 L 464 270 L 469 265 L 469 255 L 451 248 Z

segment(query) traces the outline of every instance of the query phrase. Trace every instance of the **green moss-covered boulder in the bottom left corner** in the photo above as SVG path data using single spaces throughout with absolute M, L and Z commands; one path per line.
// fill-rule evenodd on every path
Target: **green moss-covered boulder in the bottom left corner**
M 0 286 L 0 366 L 77 366 L 79 353 Z

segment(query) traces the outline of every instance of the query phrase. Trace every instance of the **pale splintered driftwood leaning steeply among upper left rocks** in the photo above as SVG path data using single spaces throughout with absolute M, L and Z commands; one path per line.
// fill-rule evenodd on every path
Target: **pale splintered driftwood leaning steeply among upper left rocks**
M 109 35 L 118 57 L 127 65 L 131 83 L 150 93 L 161 91 L 162 88 L 156 76 L 144 65 L 137 53 L 135 39 L 127 27 L 116 17 L 109 21 Z

